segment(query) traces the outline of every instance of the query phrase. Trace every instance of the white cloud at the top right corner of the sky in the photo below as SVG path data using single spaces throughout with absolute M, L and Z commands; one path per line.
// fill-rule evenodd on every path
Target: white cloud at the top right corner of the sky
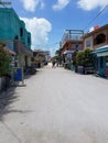
M 104 8 L 108 4 L 108 0 L 78 0 L 77 4 L 79 8 L 90 11 L 97 7 Z

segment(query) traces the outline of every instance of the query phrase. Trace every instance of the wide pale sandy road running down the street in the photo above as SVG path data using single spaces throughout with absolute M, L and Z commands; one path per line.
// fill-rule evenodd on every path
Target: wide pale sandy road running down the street
M 51 65 L 12 88 L 0 143 L 108 143 L 108 79 Z

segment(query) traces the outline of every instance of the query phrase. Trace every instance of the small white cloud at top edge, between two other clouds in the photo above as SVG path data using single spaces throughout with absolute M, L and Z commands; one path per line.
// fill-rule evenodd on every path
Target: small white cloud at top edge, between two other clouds
M 62 10 L 64 9 L 71 0 L 57 0 L 56 4 L 53 6 L 54 10 Z

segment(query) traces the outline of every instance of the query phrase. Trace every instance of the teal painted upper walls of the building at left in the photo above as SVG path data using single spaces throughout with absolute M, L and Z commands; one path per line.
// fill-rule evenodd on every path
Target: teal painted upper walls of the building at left
M 31 47 L 31 33 L 13 9 L 0 8 L 0 40 L 19 40 Z

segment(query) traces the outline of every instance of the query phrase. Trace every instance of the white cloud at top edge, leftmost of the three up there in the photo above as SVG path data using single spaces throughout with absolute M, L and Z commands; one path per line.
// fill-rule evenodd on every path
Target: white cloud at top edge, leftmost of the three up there
M 36 7 L 44 8 L 43 0 L 20 0 L 23 3 L 23 7 L 28 11 L 34 11 Z

